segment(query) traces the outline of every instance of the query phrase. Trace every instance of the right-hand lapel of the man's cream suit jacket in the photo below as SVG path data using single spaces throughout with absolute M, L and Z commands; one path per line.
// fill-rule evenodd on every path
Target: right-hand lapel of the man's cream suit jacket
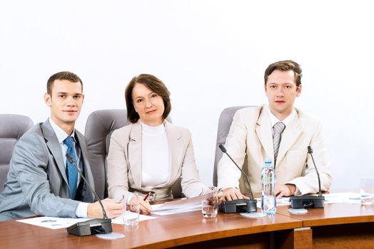
M 298 120 L 298 112 L 296 112 L 295 117 L 293 117 L 293 119 L 290 120 L 290 123 L 287 125 L 287 127 L 285 127 L 283 131 L 281 145 L 279 146 L 277 165 L 282 161 L 290 147 L 295 143 L 296 139 L 298 139 L 298 137 L 300 136 L 301 129 L 299 128 L 299 126 L 300 122 Z

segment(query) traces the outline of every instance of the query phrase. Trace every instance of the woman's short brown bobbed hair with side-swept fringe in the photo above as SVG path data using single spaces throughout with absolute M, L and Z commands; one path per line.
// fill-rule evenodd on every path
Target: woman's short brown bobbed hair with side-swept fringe
M 125 90 L 128 121 L 131 123 L 136 123 L 140 118 L 138 112 L 135 110 L 135 107 L 133 107 L 133 88 L 136 83 L 145 85 L 151 91 L 162 97 L 163 105 L 165 107 L 162 117 L 163 120 L 165 120 L 171 111 L 170 92 L 168 91 L 168 88 L 166 88 L 166 85 L 163 84 L 163 82 L 156 76 L 141 74 L 135 76 L 130 83 L 128 83 Z

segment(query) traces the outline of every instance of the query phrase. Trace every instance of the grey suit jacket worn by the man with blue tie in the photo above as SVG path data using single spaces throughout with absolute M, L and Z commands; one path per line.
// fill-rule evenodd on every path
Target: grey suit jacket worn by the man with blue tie
M 84 174 L 93 187 L 84 136 L 75 131 L 84 161 Z M 81 200 L 94 201 L 86 184 Z M 8 180 L 0 194 L 0 221 L 27 216 L 76 217 L 80 201 L 71 199 L 59 141 L 47 120 L 19 139 L 10 161 Z

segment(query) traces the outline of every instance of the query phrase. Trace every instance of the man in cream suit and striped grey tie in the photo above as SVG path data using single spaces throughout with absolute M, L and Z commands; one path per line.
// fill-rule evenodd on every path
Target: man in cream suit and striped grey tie
M 265 159 L 276 167 L 276 196 L 303 195 L 318 192 L 318 178 L 308 146 L 313 148 L 315 164 L 320 172 L 323 191 L 330 188 L 330 159 L 318 118 L 293 107 L 301 93 L 302 70 L 293 60 L 278 61 L 265 71 L 265 92 L 268 105 L 238 110 L 226 139 L 228 154 L 239 166 L 246 164 L 253 192 L 261 192 L 261 169 Z M 275 157 L 273 126 L 281 122 L 281 144 Z M 276 162 L 274 164 L 274 162 Z M 239 186 L 241 172 L 226 155 L 218 163 L 218 189 L 221 201 L 247 198 Z M 241 189 L 241 191 L 239 190 Z

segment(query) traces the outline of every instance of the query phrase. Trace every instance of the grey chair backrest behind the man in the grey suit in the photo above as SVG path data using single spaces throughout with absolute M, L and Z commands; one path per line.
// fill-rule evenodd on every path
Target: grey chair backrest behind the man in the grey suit
M 15 114 L 0 114 L 0 192 L 6 183 L 9 162 L 14 146 L 34 123 L 29 117 Z

